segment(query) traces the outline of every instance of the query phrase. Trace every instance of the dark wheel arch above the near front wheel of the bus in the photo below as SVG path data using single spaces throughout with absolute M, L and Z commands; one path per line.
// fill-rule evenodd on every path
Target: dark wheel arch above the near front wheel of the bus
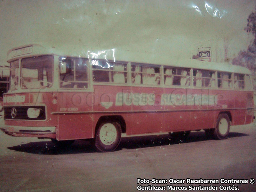
M 95 137 L 95 134 L 97 132 L 98 127 L 104 121 L 115 121 L 115 122 L 117 122 L 121 126 L 122 133 L 126 133 L 126 124 L 125 124 L 125 121 L 124 121 L 124 117 L 121 116 L 121 115 L 110 115 L 110 116 L 108 115 L 108 116 L 100 116 L 100 118 L 98 119 L 98 122 L 95 126 L 93 137 Z

